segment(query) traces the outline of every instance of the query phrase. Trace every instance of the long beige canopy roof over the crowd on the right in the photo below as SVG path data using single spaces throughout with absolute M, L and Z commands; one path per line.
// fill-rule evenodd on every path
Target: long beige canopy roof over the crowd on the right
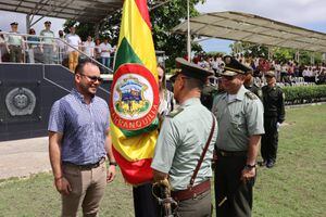
M 326 34 L 240 12 L 215 12 L 190 18 L 191 35 L 272 47 L 326 52 Z M 187 34 L 187 21 L 173 28 Z

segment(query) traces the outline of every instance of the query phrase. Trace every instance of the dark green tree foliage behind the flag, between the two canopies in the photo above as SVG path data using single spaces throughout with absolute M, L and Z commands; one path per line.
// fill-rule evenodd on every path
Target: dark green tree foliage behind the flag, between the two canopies
M 195 9 L 197 3 L 203 3 L 205 0 L 190 0 L 190 16 L 199 15 Z M 155 5 L 159 1 L 149 1 L 149 8 Z M 162 1 L 160 1 L 162 2 Z M 171 29 L 180 24 L 187 18 L 187 1 L 171 0 L 161 7 L 150 11 L 152 22 L 152 33 L 155 50 L 165 51 L 166 66 L 174 66 L 174 59 L 176 56 L 185 56 L 187 54 L 187 36 L 173 34 Z M 122 10 L 116 11 L 100 23 L 100 39 L 109 37 L 112 44 L 116 44 L 118 40 L 120 24 L 122 17 Z M 77 23 L 75 21 L 67 21 L 64 24 L 65 33 L 68 33 L 68 27 L 76 25 L 76 34 L 82 39 L 86 39 L 88 35 L 95 35 L 93 23 Z M 193 51 L 201 51 L 199 43 L 192 42 L 191 49 Z

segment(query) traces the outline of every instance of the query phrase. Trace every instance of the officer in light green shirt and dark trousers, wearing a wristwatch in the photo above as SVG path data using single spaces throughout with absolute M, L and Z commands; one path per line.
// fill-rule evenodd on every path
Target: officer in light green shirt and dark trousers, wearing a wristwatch
M 216 216 L 251 216 L 252 187 L 261 135 L 263 105 L 243 87 L 247 66 L 224 58 L 225 93 L 216 95 L 213 113 L 218 123 L 215 166 Z

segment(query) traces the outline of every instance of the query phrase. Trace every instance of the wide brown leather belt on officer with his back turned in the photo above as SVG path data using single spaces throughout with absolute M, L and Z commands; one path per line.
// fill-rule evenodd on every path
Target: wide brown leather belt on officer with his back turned
M 211 181 L 206 180 L 204 182 L 201 182 L 191 189 L 180 190 L 180 191 L 172 191 L 171 195 L 176 201 L 185 201 L 188 199 L 195 199 L 199 194 L 209 191 L 211 189 Z

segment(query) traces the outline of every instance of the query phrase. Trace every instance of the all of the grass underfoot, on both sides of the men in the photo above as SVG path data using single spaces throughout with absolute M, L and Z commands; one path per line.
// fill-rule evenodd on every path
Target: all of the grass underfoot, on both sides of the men
M 277 164 L 259 168 L 253 216 L 326 216 L 326 104 L 287 110 Z M 0 216 L 60 216 L 51 174 L 0 180 Z M 101 216 L 134 216 L 131 188 L 118 174 L 108 184 Z

